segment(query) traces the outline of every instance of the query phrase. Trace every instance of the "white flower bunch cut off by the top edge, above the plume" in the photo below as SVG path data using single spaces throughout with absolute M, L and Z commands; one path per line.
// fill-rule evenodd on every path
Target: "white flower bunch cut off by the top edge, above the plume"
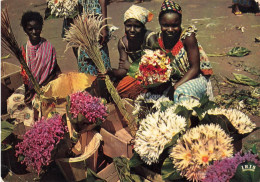
M 75 13 L 78 0 L 47 0 L 51 14 L 57 17 L 69 17 Z

